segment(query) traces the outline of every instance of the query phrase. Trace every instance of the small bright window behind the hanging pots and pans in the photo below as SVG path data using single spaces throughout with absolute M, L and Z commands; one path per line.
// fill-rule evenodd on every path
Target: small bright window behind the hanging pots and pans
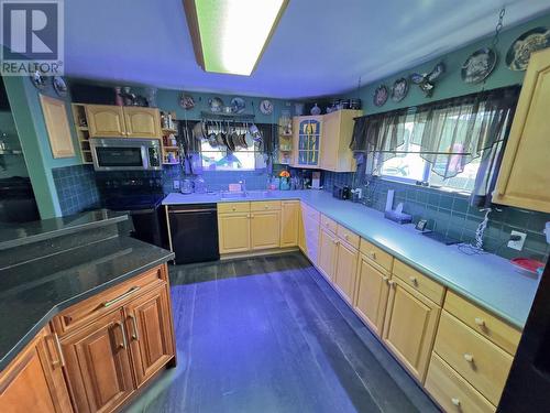
M 265 167 L 260 144 L 231 152 L 227 146 L 212 146 L 208 140 L 200 144 L 202 167 L 209 171 L 254 171 Z

